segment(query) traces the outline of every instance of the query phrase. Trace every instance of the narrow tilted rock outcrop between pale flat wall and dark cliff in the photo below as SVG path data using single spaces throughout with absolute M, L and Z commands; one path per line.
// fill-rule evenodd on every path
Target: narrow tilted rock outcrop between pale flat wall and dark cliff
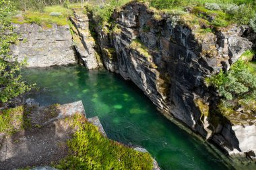
M 95 42 L 89 30 L 89 19 L 83 11 L 84 9 L 73 9 L 74 17 L 71 17 L 74 26 L 71 29 L 75 33 L 73 34 L 73 45 L 78 53 L 79 62 L 87 69 L 96 69 L 102 64 L 99 57 L 98 60 L 96 58 Z

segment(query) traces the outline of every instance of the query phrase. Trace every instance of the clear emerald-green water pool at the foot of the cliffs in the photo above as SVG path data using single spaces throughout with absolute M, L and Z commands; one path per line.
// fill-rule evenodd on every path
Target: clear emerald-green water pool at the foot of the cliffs
M 141 90 L 119 75 L 77 66 L 28 69 L 23 75 L 40 88 L 29 96 L 40 105 L 82 100 L 87 116 L 98 116 L 109 138 L 143 146 L 162 169 L 230 169 L 204 144 L 166 120 Z

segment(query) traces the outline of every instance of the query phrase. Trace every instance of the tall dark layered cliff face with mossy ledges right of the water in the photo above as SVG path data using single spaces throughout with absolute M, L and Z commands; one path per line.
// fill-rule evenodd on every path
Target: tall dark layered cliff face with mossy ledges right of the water
M 173 17 L 154 15 L 146 5 L 129 3 L 113 13 L 113 35 L 96 29 L 106 69 L 133 81 L 167 118 L 181 120 L 229 153 L 255 150 L 255 141 L 243 140 L 242 147 L 237 128 L 210 115 L 216 98 L 204 83 L 251 48 L 242 37 L 248 28 L 229 26 L 199 34 L 200 26 L 189 24 L 186 17 L 176 24 Z

